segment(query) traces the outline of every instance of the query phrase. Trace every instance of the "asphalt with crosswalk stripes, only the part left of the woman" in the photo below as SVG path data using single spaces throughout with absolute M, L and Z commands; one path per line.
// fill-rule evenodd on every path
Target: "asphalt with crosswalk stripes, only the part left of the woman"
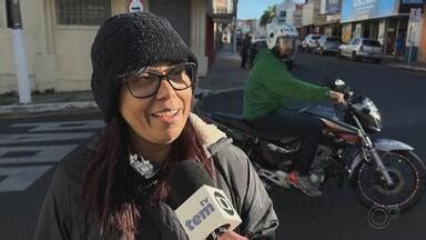
M 0 239 L 33 238 L 54 167 L 102 124 L 98 111 L 0 119 Z

